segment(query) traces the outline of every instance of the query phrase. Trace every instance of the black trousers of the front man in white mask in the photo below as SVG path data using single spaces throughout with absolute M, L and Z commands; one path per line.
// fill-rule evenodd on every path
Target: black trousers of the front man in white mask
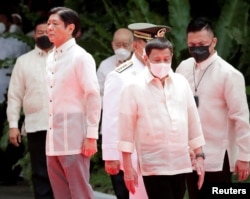
M 148 199 L 183 199 L 185 174 L 143 176 Z

